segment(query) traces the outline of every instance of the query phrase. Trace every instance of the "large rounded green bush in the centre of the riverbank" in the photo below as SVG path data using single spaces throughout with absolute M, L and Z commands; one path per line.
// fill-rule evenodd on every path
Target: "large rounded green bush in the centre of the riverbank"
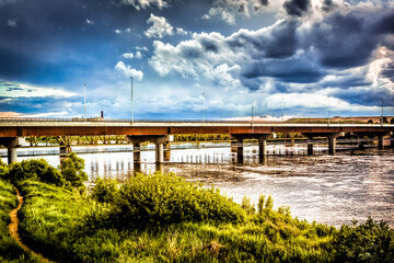
M 118 226 L 146 227 L 184 221 L 240 222 L 245 211 L 218 188 L 205 188 L 174 174 L 136 175 L 114 201 Z

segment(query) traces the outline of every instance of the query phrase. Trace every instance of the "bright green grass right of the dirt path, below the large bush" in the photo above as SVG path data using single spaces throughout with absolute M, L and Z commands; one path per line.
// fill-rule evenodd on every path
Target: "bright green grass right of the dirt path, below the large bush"
M 163 175 L 157 175 L 163 176 Z M 26 202 L 21 236 L 59 262 L 316 262 L 329 261 L 333 229 L 267 208 L 244 222 L 193 221 L 130 228 L 77 192 L 37 181 L 19 185 Z M 230 202 L 230 201 L 228 201 Z M 236 205 L 236 204 L 231 204 Z M 236 208 L 237 209 L 237 208 Z M 114 214 L 109 214 L 114 215 Z M 109 222 L 108 222 L 109 221 Z M 321 237 L 317 227 L 326 231 Z

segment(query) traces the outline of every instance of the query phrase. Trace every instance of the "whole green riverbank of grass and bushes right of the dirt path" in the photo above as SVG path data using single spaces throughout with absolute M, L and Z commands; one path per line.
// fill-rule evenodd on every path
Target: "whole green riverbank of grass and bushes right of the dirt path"
M 394 259 L 394 232 L 384 222 L 369 219 L 340 229 L 310 224 L 291 217 L 288 208 L 274 209 L 269 196 L 262 196 L 257 208 L 247 198 L 239 205 L 217 188 L 202 187 L 173 174 L 137 175 L 121 185 L 99 180 L 88 194 L 76 183 L 83 174 L 78 173 L 81 165 L 74 162 L 83 164 L 74 157 L 56 176 L 48 175 L 47 165 L 36 165 L 39 169 L 34 170 L 24 163 L 34 172 L 12 179 L 12 170 L 21 170 L 15 164 L 0 180 L 0 185 L 8 187 L 10 183 L 5 180 L 11 181 L 25 197 L 20 213 L 23 242 L 58 262 L 393 262 Z M 10 198 L 12 194 L 9 188 Z

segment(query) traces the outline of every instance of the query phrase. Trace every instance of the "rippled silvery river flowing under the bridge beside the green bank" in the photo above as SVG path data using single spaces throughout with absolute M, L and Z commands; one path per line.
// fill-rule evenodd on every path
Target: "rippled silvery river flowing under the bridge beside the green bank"
M 109 148 L 123 150 L 130 146 Z M 28 151 L 34 149 L 37 150 L 30 148 Z M 58 151 L 58 148 L 39 150 L 43 149 Z M 243 164 L 237 164 L 229 147 L 178 149 L 171 151 L 170 162 L 160 169 L 188 181 L 218 186 L 239 203 L 245 195 L 255 204 L 262 194 L 271 195 L 275 207 L 289 206 L 293 216 L 309 221 L 339 227 L 350 224 L 354 218 L 363 221 L 371 216 L 394 227 L 393 149 L 341 150 L 335 156 L 326 155 L 324 147 L 317 146 L 315 150 L 317 155 L 309 157 L 303 156 L 304 146 L 273 145 L 268 146 L 268 153 L 282 156 L 268 156 L 259 161 L 255 153 L 257 147 L 251 146 L 245 147 Z M 85 160 L 91 182 L 97 176 L 123 181 L 134 174 L 132 152 L 83 153 L 80 157 Z M 19 160 L 28 158 L 32 157 L 20 157 Z M 39 158 L 55 167 L 60 162 L 58 156 Z M 158 169 L 153 163 L 154 151 L 142 151 L 141 161 L 140 170 L 144 173 Z

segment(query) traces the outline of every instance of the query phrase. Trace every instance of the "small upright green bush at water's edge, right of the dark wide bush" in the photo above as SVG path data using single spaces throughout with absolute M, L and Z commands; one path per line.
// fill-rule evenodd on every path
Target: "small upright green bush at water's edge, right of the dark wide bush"
M 83 171 L 84 160 L 79 158 L 76 152 L 71 152 L 68 158 L 60 163 L 61 174 L 71 186 L 81 187 L 88 180 L 88 174 Z

